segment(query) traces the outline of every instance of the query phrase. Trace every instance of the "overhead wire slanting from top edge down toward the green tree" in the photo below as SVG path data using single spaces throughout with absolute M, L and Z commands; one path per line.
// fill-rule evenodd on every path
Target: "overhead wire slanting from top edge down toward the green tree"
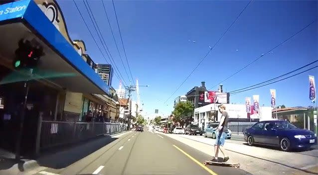
M 224 31 L 224 33 L 221 35 L 221 37 L 215 42 L 215 44 L 210 47 L 209 51 L 203 56 L 203 58 L 201 58 L 200 62 L 194 67 L 194 69 L 190 72 L 190 74 L 184 79 L 184 81 L 179 85 L 179 87 L 177 87 L 174 92 L 168 97 L 168 99 L 166 99 L 164 101 L 164 103 L 166 103 L 171 96 L 188 80 L 188 78 L 192 75 L 192 73 L 199 67 L 199 65 L 203 62 L 203 60 L 209 55 L 209 53 L 212 51 L 212 49 L 217 45 L 217 43 L 223 38 L 223 36 L 227 33 L 227 31 L 232 27 L 232 25 L 237 21 L 237 19 L 241 16 L 241 14 L 245 11 L 245 9 L 247 8 L 247 6 L 251 3 L 252 0 L 250 0 L 245 7 L 243 8 L 243 10 L 239 13 L 239 15 L 235 18 L 235 20 L 230 24 L 230 26 Z

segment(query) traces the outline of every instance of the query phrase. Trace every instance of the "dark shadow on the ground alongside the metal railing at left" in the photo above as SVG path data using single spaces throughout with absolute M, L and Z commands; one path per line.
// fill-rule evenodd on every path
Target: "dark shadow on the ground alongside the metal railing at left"
M 42 150 L 37 162 L 40 166 L 62 169 L 94 153 L 117 138 L 99 136 L 71 145 Z

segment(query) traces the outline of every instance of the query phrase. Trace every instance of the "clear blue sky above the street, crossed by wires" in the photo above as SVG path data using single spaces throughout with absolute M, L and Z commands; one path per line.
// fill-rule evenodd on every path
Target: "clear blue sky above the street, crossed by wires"
M 87 52 L 95 63 L 106 63 L 88 33 L 72 0 L 58 0 L 72 39 L 84 40 Z M 77 0 L 96 37 L 83 1 Z M 104 1 L 120 46 L 116 18 L 111 1 Z M 103 36 L 129 84 L 100 0 L 89 2 Z M 214 45 L 221 34 L 241 12 L 248 1 L 146 1 L 115 0 L 125 49 L 134 79 L 139 79 L 141 100 L 145 112 L 169 114 L 176 96 L 206 82 L 210 88 L 249 62 L 275 47 L 313 20 L 317 19 L 317 1 L 252 1 L 212 52 L 185 84 L 166 102 L 191 70 Z M 189 42 L 195 40 L 196 42 Z M 99 42 L 99 41 L 98 41 Z M 100 42 L 99 42 L 100 44 Z M 100 45 L 101 46 L 101 45 Z M 237 51 L 238 50 L 238 51 Z M 124 57 L 122 57 L 124 59 Z M 247 87 L 277 77 L 318 59 L 318 22 L 276 48 L 244 71 L 223 82 L 224 90 Z M 125 61 L 125 59 L 124 59 Z M 316 64 L 317 65 L 317 64 Z M 127 68 L 127 65 L 125 65 Z M 127 70 L 128 71 L 128 70 Z M 230 102 L 244 103 L 246 96 L 260 95 L 260 104 L 270 105 L 270 88 L 277 91 L 277 104 L 308 106 L 308 75 L 318 77 L 312 70 L 297 77 L 235 94 Z M 136 81 L 136 80 L 135 80 Z M 317 86 L 316 78 L 316 86 Z M 114 77 L 113 87 L 119 80 Z M 217 88 L 217 87 L 215 87 Z

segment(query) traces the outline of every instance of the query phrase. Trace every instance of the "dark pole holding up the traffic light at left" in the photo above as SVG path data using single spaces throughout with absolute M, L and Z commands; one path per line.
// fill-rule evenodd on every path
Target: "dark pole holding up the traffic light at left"
M 20 154 L 21 154 L 21 140 L 22 140 L 22 133 L 23 133 L 23 123 L 24 123 L 24 118 L 25 118 L 25 108 L 26 108 L 26 102 L 27 102 L 27 95 L 29 92 L 28 80 L 24 82 L 24 88 L 25 88 L 25 96 L 24 96 L 23 108 L 22 108 L 22 112 L 21 112 L 21 116 L 20 116 L 19 131 L 18 131 L 16 145 L 15 145 L 15 160 L 20 160 Z

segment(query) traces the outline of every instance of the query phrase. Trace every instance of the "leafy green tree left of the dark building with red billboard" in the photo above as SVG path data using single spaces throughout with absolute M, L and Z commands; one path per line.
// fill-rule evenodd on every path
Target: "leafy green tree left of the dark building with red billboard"
M 183 124 L 185 119 L 192 116 L 193 106 L 189 101 L 179 102 L 175 105 L 172 113 L 174 115 L 173 121 Z

